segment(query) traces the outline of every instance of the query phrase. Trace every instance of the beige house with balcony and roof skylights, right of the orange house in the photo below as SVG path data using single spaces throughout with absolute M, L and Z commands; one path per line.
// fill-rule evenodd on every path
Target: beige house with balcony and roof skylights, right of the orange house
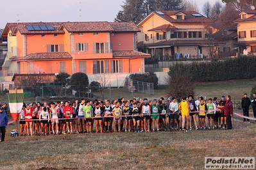
M 212 20 L 194 11 L 151 12 L 137 24 L 137 48 L 159 60 L 209 56 Z

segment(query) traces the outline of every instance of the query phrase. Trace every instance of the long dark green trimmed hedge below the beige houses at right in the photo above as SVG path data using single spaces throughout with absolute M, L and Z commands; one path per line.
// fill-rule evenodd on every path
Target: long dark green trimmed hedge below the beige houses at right
M 170 66 L 169 69 L 170 76 L 178 72 L 189 73 L 191 81 L 196 82 L 252 79 L 256 77 L 256 56 L 243 56 L 226 61 L 203 63 L 184 64 L 177 62 Z

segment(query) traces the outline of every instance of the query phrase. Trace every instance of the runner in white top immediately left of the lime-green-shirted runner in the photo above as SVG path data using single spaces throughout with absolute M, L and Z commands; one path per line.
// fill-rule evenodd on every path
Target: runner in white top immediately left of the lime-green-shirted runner
M 78 118 L 77 134 L 83 133 L 83 127 L 85 126 L 85 112 L 83 111 L 83 107 L 85 107 L 85 98 L 81 98 L 81 103 L 78 103 L 78 107 L 76 107 L 76 117 Z

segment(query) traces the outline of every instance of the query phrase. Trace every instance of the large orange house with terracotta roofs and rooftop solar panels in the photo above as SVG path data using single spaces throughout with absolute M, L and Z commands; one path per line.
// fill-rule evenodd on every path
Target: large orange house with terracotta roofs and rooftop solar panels
M 130 73 L 150 57 L 135 50 L 139 31 L 132 22 L 30 22 L 8 23 L 3 36 L 16 41 L 8 59 L 18 73 Z

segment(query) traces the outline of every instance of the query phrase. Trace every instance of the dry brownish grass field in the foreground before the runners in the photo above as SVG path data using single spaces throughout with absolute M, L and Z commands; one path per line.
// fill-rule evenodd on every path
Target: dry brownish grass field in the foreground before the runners
M 1 169 L 203 169 L 204 157 L 254 157 L 255 125 L 233 130 L 9 137 Z

